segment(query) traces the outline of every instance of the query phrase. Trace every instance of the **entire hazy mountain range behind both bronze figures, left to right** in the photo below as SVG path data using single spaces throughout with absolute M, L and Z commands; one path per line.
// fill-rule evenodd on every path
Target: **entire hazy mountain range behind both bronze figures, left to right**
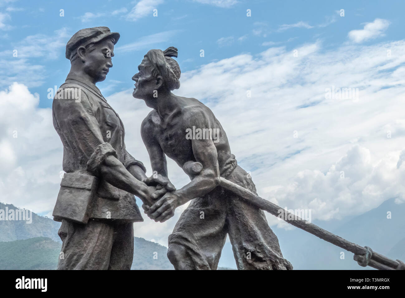
M 0 209 L 15 207 L 0 203 Z M 387 219 L 387 211 L 392 218 Z M 389 199 L 379 207 L 359 216 L 343 220 L 316 221 L 318 226 L 339 235 L 358 245 L 367 245 L 376 252 L 392 259 L 405 261 L 405 204 L 396 204 Z M 33 213 L 32 224 L 19 221 L 0 221 L 0 269 L 55 269 L 61 247 L 58 237 L 59 222 Z M 360 267 L 353 260 L 353 254 L 319 239 L 309 233 L 294 228 L 284 230 L 274 228 L 279 238 L 283 256 L 294 269 L 372 269 Z M 32 249 L 30 248 L 32 247 Z M 340 252 L 345 259 L 340 259 Z M 153 258 L 156 256 L 157 259 Z M 134 238 L 134 262 L 132 269 L 172 270 L 166 256 L 167 248 Z M 222 252 L 219 270 L 235 268 L 232 248 L 226 243 Z M 226 268 L 228 267 L 228 268 Z

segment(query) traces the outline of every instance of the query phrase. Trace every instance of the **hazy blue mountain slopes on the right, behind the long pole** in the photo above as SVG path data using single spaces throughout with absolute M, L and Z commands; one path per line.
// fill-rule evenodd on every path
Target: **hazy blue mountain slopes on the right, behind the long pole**
M 313 223 L 348 241 L 367 245 L 384 256 L 405 261 L 405 203 L 396 204 L 394 201 L 384 201 L 377 208 L 344 222 L 333 220 Z M 387 219 L 387 211 L 391 211 L 391 219 Z M 353 253 L 298 228 L 273 230 L 279 238 L 283 256 L 292 263 L 294 269 L 373 269 L 359 266 L 353 260 Z M 343 260 L 340 252 L 345 253 Z

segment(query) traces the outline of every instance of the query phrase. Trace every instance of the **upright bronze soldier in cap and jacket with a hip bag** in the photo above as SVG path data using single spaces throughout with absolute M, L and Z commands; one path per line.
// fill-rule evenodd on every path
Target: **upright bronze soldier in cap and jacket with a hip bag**
M 129 270 L 133 223 L 143 221 L 134 195 L 150 204 L 165 192 L 143 182 L 145 167 L 127 152 L 124 125 L 95 85 L 113 66 L 118 39 L 108 27 L 94 27 L 66 44 L 71 68 L 52 105 L 66 172 L 53 211 L 62 222 L 60 270 Z

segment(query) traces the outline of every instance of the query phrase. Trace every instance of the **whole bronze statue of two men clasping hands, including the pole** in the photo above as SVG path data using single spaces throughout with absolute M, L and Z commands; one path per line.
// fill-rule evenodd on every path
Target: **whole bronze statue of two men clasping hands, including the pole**
M 179 89 L 181 74 L 171 58 L 177 57 L 174 47 L 149 51 L 132 78 L 133 96 L 153 108 L 141 127 L 153 175 L 147 178 L 143 164 L 128 153 L 124 125 L 95 85 L 113 66 L 118 39 L 108 27 L 94 27 L 79 30 L 66 45 L 71 68 L 52 106 L 66 171 L 53 210 L 54 220 L 62 222 L 58 269 L 130 269 L 133 223 L 143 221 L 134 195 L 143 201 L 145 213 L 160 222 L 191 200 L 169 236 L 168 258 L 175 269 L 216 269 L 227 234 L 238 269 L 292 269 L 263 213 L 288 211 L 258 197 L 211 110 L 171 92 Z M 166 155 L 191 179 L 179 190 L 168 179 Z M 405 269 L 400 260 L 301 218 L 288 218 L 284 216 L 288 223 L 353 252 L 361 266 Z

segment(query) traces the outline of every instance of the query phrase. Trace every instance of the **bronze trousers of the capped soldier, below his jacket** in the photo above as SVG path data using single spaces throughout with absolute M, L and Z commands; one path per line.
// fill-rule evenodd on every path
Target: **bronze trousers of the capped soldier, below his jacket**
M 62 220 L 58 270 L 130 270 L 134 257 L 133 223 L 90 219 L 87 224 Z

